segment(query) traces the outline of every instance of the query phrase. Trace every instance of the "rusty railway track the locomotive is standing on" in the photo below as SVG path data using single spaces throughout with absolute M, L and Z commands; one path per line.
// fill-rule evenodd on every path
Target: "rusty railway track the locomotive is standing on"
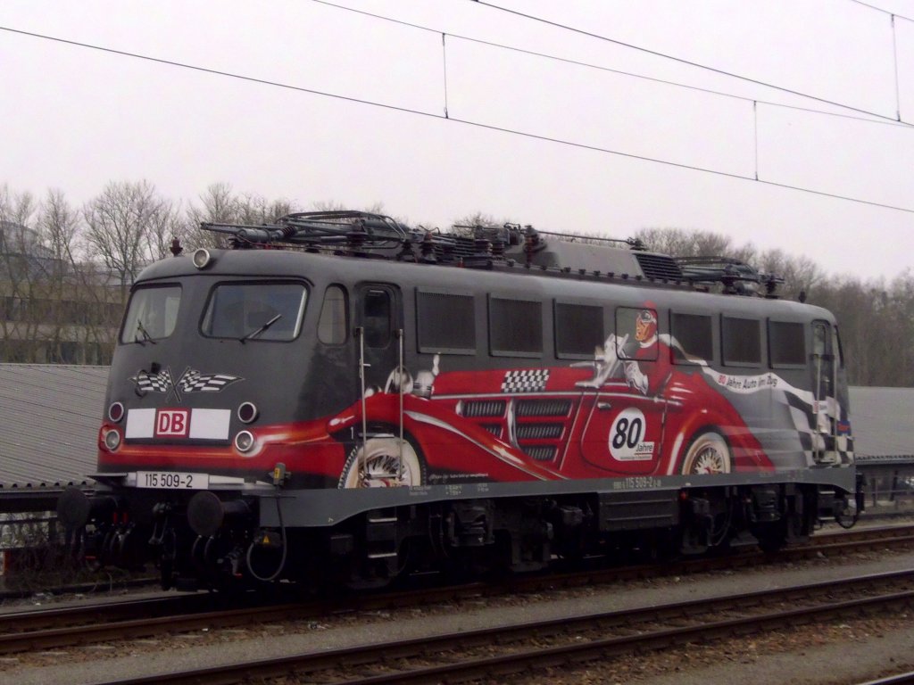
M 420 590 L 348 595 L 335 599 L 277 601 L 263 595 L 232 597 L 227 606 L 220 595 L 166 595 L 125 599 L 91 606 L 28 609 L 0 614 L 0 655 L 75 645 L 150 638 L 202 628 L 231 628 L 258 622 L 295 621 L 358 614 L 410 606 L 429 606 L 501 595 L 555 592 L 562 588 L 599 586 L 631 579 L 700 574 L 759 564 L 777 564 L 914 543 L 914 526 L 892 526 L 855 532 L 820 534 L 808 545 L 776 556 L 740 553 L 675 564 L 596 568 L 564 574 L 515 577 L 505 582 L 474 582 L 431 586 Z

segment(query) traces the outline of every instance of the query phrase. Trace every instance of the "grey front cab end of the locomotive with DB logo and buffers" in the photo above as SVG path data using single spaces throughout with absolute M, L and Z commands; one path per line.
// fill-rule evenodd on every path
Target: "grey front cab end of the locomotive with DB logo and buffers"
M 344 408 L 355 390 L 353 351 L 334 344 L 347 325 L 338 286 L 237 258 L 198 252 L 137 279 L 92 474 L 119 494 L 87 504 L 73 491 L 60 502 L 70 529 L 96 523 L 90 555 L 123 566 L 161 558 L 165 585 L 173 561 L 178 576 L 260 576 L 270 562 L 258 554 L 270 558 L 280 541 L 260 530 L 264 502 L 285 486 L 335 487 L 345 458 L 325 421 L 307 420 Z M 309 448 L 293 454 L 295 444 Z M 303 453 L 312 468 L 296 469 Z M 181 567 L 187 559 L 192 568 Z

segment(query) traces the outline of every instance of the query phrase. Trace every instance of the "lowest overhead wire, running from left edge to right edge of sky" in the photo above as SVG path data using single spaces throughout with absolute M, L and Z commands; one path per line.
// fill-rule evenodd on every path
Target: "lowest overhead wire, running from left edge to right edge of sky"
M 643 162 L 663 164 L 665 166 L 670 166 L 670 167 L 674 167 L 677 169 L 683 169 L 683 170 L 687 170 L 687 171 L 701 172 L 704 174 L 714 174 L 717 176 L 723 176 L 723 177 L 738 179 L 738 180 L 743 180 L 743 181 L 752 181 L 752 182 L 759 183 L 759 184 L 771 185 L 773 187 L 779 187 L 779 188 L 783 188 L 783 189 L 787 189 L 787 190 L 794 190 L 794 191 L 807 193 L 807 194 L 811 194 L 811 195 L 819 195 L 819 196 L 823 196 L 823 197 L 830 197 L 830 198 L 834 198 L 834 199 L 845 200 L 847 202 L 853 202 L 853 203 L 860 204 L 860 205 L 876 206 L 876 207 L 882 207 L 884 209 L 890 209 L 890 210 L 894 210 L 894 211 L 898 211 L 898 212 L 914 214 L 914 208 L 912 208 L 912 207 L 888 205 L 886 203 L 875 202 L 872 200 L 866 200 L 866 199 L 859 198 L 859 197 L 852 197 L 850 195 L 827 193 L 827 192 L 824 192 L 821 190 L 815 190 L 813 188 L 807 188 L 807 187 L 803 187 L 803 186 L 799 186 L 799 185 L 781 184 L 781 183 L 777 183 L 774 181 L 761 179 L 761 178 L 756 179 L 749 175 L 734 174 L 731 172 L 724 172 L 724 171 L 720 171 L 717 169 L 711 169 L 708 167 L 701 167 L 701 166 L 696 166 L 696 165 L 692 165 L 692 164 L 672 162 L 670 160 L 659 159 L 656 157 L 648 157 L 646 155 L 640 155 L 640 154 L 634 154 L 634 153 L 624 153 L 619 150 L 612 150 L 610 148 L 600 147 L 599 145 L 591 145 L 591 144 L 587 144 L 587 143 L 583 143 L 583 142 L 574 142 L 574 141 L 564 140 L 561 138 L 551 137 L 551 136 L 547 136 L 547 135 L 538 135 L 536 133 L 518 131 L 518 130 L 510 129 L 510 128 L 507 128 L 504 126 L 496 126 L 494 124 L 488 124 L 488 123 L 485 123 L 484 121 L 472 121 L 472 120 L 468 120 L 468 119 L 455 118 L 453 116 L 446 117 L 441 113 L 415 110 L 415 109 L 411 109 L 409 107 L 401 107 L 398 105 L 392 105 L 392 104 L 388 104 L 388 103 L 384 103 L 384 102 L 377 102 L 375 100 L 354 98 L 352 96 L 341 95 L 339 93 L 332 93 L 332 92 L 328 92 L 325 90 L 311 89 L 311 88 L 306 88 L 303 86 L 295 86 L 295 85 L 288 84 L 288 83 L 282 83 L 280 81 L 273 81 L 273 80 L 269 80 L 269 79 L 259 79 L 257 77 L 246 76 L 243 74 L 238 74 L 238 73 L 234 73 L 234 72 L 230 72 L 230 71 L 223 71 L 220 69 L 200 67 L 197 65 L 187 64 L 185 62 L 178 62 L 178 61 L 175 61 L 172 59 L 155 58 L 152 56 L 142 55 L 142 54 L 134 53 L 134 52 L 127 52 L 125 50 L 119 50 L 119 49 L 112 48 L 112 47 L 98 46 L 98 45 L 93 45 L 90 43 L 80 42 L 77 40 L 70 40 L 68 38 L 38 34 L 38 33 L 32 32 L 32 31 L 25 31 L 22 29 L 13 28 L 11 26 L 0 26 L 0 31 L 5 31 L 8 33 L 17 34 L 20 36 L 34 37 L 34 38 L 38 38 L 38 39 L 42 39 L 42 40 L 48 40 L 48 41 L 57 42 L 57 43 L 61 43 L 61 44 L 69 45 L 69 46 L 73 46 L 73 47 L 98 50 L 101 52 L 105 52 L 105 53 L 120 56 L 120 57 L 141 59 L 144 61 L 149 61 L 149 62 L 153 62 L 155 64 L 161 64 L 161 65 L 165 65 L 168 67 L 186 68 L 186 69 L 190 69 L 193 71 L 211 74 L 213 76 L 220 76 L 220 77 L 225 77 L 225 78 L 229 78 L 229 79 L 239 79 L 239 80 L 242 80 L 245 82 L 257 83 L 257 84 L 260 84 L 263 86 L 282 88 L 285 90 L 294 90 L 294 91 L 298 91 L 298 92 L 308 93 L 311 95 L 318 95 L 318 96 L 322 96 L 322 97 L 326 97 L 326 98 L 332 98 L 335 100 L 354 102 L 354 103 L 358 103 L 358 104 L 368 105 L 371 107 L 381 108 L 381 109 L 388 110 L 388 111 L 398 111 L 398 112 L 402 112 L 402 113 L 423 116 L 423 117 L 427 117 L 430 119 L 437 119 L 437 120 L 441 120 L 441 121 L 450 121 L 450 122 L 454 122 L 454 123 L 462 123 L 464 125 L 472 126 L 474 128 L 478 128 L 478 129 L 484 129 L 484 130 L 493 131 L 493 132 L 509 133 L 512 135 L 522 136 L 522 137 L 529 138 L 532 140 L 562 144 L 562 145 L 577 148 L 580 150 L 589 150 L 591 152 L 596 152 L 596 153 L 612 154 L 612 155 L 619 156 L 619 157 L 622 157 L 625 159 L 640 160 Z

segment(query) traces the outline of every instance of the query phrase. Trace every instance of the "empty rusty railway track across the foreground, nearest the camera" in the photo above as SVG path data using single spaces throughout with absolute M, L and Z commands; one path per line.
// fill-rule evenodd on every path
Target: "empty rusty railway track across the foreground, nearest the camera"
M 262 682 L 294 675 L 333 683 L 429 683 L 529 678 L 696 642 L 745 637 L 785 627 L 884 614 L 914 606 L 914 572 L 869 574 L 430 638 L 320 650 L 206 669 L 110 680 L 107 685 Z M 903 680 L 902 680 L 903 681 Z

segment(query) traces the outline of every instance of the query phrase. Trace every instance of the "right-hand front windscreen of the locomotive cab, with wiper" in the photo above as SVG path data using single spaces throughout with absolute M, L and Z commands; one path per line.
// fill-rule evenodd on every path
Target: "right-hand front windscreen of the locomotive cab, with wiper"
M 239 341 L 290 341 L 302 328 L 307 290 L 301 283 L 220 283 L 203 316 L 202 332 Z

